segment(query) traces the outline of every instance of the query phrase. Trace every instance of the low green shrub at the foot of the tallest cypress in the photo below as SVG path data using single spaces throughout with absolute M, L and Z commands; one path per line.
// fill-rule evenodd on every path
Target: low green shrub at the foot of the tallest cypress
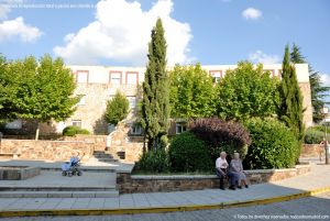
M 135 170 L 140 172 L 169 172 L 169 159 L 165 148 L 148 151 L 142 154 L 140 161 L 135 164 Z

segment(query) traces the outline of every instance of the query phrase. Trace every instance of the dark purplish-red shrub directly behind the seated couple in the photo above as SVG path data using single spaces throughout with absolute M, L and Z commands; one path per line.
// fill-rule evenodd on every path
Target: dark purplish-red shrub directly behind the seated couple
M 229 155 L 238 152 L 244 157 L 251 143 L 246 129 L 237 122 L 226 122 L 218 118 L 198 119 L 190 121 L 188 128 L 207 144 L 213 161 L 221 151 Z

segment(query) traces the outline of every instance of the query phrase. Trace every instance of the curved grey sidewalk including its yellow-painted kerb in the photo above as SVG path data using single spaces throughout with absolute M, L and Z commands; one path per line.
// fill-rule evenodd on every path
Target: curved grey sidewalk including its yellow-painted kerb
M 0 216 L 101 214 L 102 211 L 103 213 L 136 213 L 219 209 L 284 201 L 324 191 L 330 191 L 330 165 L 312 165 L 309 174 L 280 181 L 252 185 L 249 189 L 235 191 L 205 189 L 128 194 L 114 198 L 1 199 Z

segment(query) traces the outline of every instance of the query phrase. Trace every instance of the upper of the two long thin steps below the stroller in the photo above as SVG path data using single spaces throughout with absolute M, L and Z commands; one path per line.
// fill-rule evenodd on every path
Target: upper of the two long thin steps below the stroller
M 116 186 L 107 187 L 63 187 L 63 186 L 25 186 L 25 187 L 13 187 L 13 186 L 2 186 L 0 187 L 0 192 L 2 191 L 112 191 L 116 190 Z

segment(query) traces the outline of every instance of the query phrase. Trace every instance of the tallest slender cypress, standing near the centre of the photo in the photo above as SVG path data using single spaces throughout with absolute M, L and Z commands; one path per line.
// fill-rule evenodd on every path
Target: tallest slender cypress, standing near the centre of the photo
M 164 145 L 169 125 L 166 40 L 161 19 L 152 30 L 147 57 L 148 63 L 143 82 L 142 125 L 147 140 L 147 148 L 152 150 Z

